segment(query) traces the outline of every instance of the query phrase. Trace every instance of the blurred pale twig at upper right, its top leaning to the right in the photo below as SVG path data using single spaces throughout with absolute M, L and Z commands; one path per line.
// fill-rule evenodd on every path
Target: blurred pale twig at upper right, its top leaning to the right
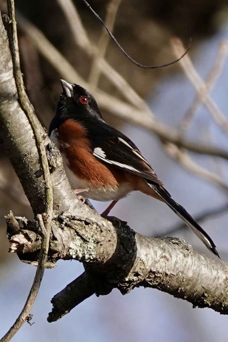
M 180 123 L 180 137 L 183 137 L 185 131 L 187 130 L 190 121 L 192 120 L 193 116 L 199 110 L 200 105 L 202 104 L 203 100 L 209 93 L 213 90 L 218 77 L 221 75 L 224 62 L 228 52 L 228 44 L 226 41 L 222 41 L 219 45 L 218 54 L 216 56 L 215 64 L 213 69 L 211 70 L 207 80 L 205 82 L 205 86 L 201 89 L 201 91 L 197 94 L 195 100 L 193 101 L 191 107 L 187 111 L 186 115 L 184 116 L 183 121 Z

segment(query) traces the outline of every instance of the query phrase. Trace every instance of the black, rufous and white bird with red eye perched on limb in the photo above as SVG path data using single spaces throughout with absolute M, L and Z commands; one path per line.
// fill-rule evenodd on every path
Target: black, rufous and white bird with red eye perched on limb
M 79 84 L 60 80 L 55 116 L 48 135 L 60 150 L 73 192 L 98 201 L 118 200 L 133 191 L 165 202 L 217 257 L 211 237 L 167 192 L 136 145 L 103 119 L 93 95 Z M 220 258 L 220 257 L 219 257 Z

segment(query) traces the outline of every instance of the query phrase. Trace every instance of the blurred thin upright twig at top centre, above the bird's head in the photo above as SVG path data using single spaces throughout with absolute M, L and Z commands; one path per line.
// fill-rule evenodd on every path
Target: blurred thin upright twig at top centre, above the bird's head
M 110 28 L 111 31 L 113 30 L 114 23 L 116 20 L 116 15 L 117 15 L 121 1 L 122 0 L 111 0 L 107 6 L 105 23 L 107 24 L 107 26 Z M 97 51 L 92 61 L 91 71 L 90 71 L 90 76 L 89 76 L 89 83 L 94 88 L 97 87 L 99 77 L 100 77 L 99 61 L 105 58 L 109 41 L 110 41 L 110 36 L 107 35 L 106 29 L 103 27 L 102 34 L 97 43 Z

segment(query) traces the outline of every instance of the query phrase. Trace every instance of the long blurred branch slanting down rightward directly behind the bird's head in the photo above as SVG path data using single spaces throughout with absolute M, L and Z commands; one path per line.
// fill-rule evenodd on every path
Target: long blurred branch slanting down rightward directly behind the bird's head
M 19 15 L 18 12 L 17 17 L 18 25 L 24 34 L 31 39 L 38 51 L 58 71 L 61 77 L 66 78 L 70 82 L 78 82 L 84 88 L 90 89 L 89 84 L 78 75 L 66 58 L 53 47 L 50 41 L 46 39 L 43 33 L 35 25 L 31 24 L 22 15 Z M 157 120 L 153 120 L 149 117 L 147 112 L 138 110 L 103 91 L 97 90 L 93 95 L 101 108 L 108 110 L 109 113 L 118 116 L 123 120 L 155 133 L 161 140 L 169 141 L 178 147 L 186 148 L 195 153 L 217 156 L 228 160 L 228 152 L 222 148 L 193 143 L 188 140 L 180 140 L 177 131 L 165 126 L 165 124 Z

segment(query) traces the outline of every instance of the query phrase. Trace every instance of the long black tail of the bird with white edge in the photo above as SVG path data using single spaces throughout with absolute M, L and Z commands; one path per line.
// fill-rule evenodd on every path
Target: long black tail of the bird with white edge
M 216 250 L 216 246 L 210 236 L 200 227 L 200 225 L 192 218 L 192 216 L 183 208 L 180 204 L 178 204 L 174 199 L 172 199 L 171 195 L 165 190 L 165 188 L 161 185 L 157 185 L 155 183 L 150 183 L 149 180 L 145 180 L 146 183 L 163 199 L 163 201 L 182 219 L 185 224 L 193 230 L 193 232 L 200 238 L 200 240 L 204 243 L 204 245 L 212 251 L 217 257 L 219 254 Z M 220 257 L 219 257 L 220 258 Z

